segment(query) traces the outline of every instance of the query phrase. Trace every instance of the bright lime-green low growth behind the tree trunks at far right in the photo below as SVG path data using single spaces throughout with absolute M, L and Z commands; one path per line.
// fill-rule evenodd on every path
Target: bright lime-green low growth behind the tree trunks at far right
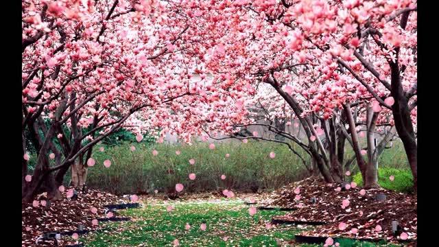
M 390 180 L 390 176 L 394 176 L 394 180 Z M 358 185 L 363 184 L 361 174 L 355 174 L 353 180 Z M 384 189 L 391 189 L 403 193 L 413 191 L 413 176 L 409 169 L 395 169 L 388 167 L 378 168 L 378 183 Z

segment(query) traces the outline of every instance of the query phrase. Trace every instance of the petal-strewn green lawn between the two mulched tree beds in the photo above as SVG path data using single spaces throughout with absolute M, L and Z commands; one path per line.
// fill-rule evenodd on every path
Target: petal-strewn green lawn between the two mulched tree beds
M 289 241 L 304 228 L 278 225 L 267 230 L 265 224 L 281 211 L 257 211 L 253 216 L 248 207 L 231 200 L 226 203 L 176 203 L 174 211 L 168 212 L 167 205 L 147 205 L 142 209 L 118 211 L 131 217 L 132 222 L 110 222 L 104 226 L 108 232 L 89 233 L 80 239 L 86 246 L 173 246 L 178 239 L 180 246 L 278 246 L 276 241 Z M 187 231 L 185 224 L 191 229 Z M 206 231 L 200 224 L 206 223 Z M 228 237 L 224 242 L 223 237 Z M 309 245 L 302 246 L 322 246 Z M 341 240 L 340 246 L 382 246 L 364 242 Z

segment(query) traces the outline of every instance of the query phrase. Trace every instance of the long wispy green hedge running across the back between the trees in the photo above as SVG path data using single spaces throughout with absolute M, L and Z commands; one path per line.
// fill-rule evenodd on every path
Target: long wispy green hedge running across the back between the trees
M 135 151 L 130 150 L 131 145 Z M 152 155 L 154 149 L 157 156 Z M 104 152 L 99 152 L 99 146 L 95 150 L 96 165 L 88 169 L 87 185 L 112 193 L 152 193 L 154 189 L 168 192 L 176 183 L 185 185 L 189 192 L 224 188 L 257 191 L 276 189 L 307 176 L 300 159 L 278 143 L 215 143 L 214 150 L 209 149 L 209 143 L 124 143 L 106 147 Z M 276 157 L 270 158 L 270 152 Z M 189 164 L 191 158 L 195 159 L 194 165 Z M 103 165 L 106 159 L 112 162 L 110 168 Z M 195 180 L 189 180 L 191 173 L 196 175 Z M 220 178 L 222 174 L 226 180 Z

